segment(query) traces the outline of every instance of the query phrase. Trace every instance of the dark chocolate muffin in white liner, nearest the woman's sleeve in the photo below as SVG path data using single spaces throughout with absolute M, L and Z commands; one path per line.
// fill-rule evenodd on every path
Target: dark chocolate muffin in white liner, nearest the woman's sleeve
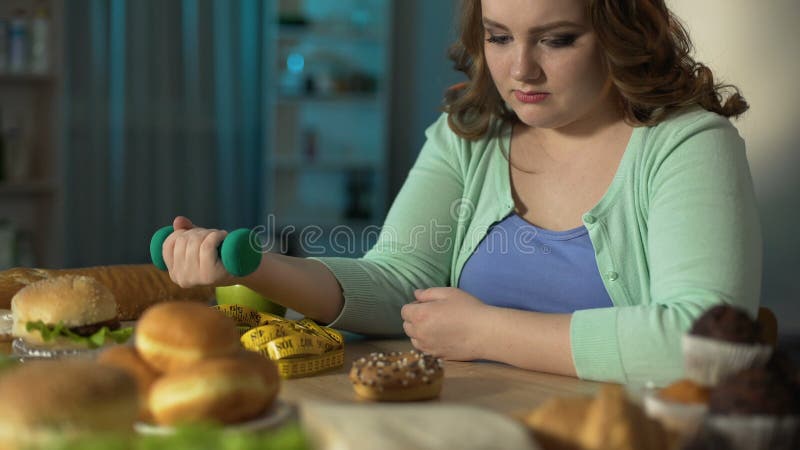
M 763 366 L 771 354 L 758 322 L 747 311 L 726 304 L 708 309 L 683 336 L 686 376 L 703 386 Z

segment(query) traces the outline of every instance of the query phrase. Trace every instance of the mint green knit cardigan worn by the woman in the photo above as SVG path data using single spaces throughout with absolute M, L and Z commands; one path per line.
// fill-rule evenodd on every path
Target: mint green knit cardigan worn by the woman
M 345 299 L 331 326 L 402 334 L 400 308 L 414 289 L 457 286 L 489 228 L 512 212 L 501 151 L 510 127 L 468 141 L 442 115 L 426 136 L 376 245 L 359 259 L 316 258 Z M 614 306 L 572 315 L 580 378 L 670 382 L 683 374 L 681 335 L 706 308 L 726 302 L 755 315 L 761 231 L 744 141 L 727 119 L 694 108 L 635 128 L 583 223 Z

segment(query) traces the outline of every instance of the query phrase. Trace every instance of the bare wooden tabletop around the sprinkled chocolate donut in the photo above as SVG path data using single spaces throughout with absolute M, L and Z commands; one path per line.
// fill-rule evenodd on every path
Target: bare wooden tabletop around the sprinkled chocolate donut
M 281 398 L 291 403 L 334 401 L 356 403 L 347 378 L 355 359 L 370 352 L 410 350 L 408 339 L 358 339 L 345 343 L 344 367 L 306 378 L 284 380 Z M 431 402 L 464 404 L 507 415 L 530 411 L 553 395 L 594 394 L 600 383 L 531 372 L 494 362 L 445 362 L 442 394 Z

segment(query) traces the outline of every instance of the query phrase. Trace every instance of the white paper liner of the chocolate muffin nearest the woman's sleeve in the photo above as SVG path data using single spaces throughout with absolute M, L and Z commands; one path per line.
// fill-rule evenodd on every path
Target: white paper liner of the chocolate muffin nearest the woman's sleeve
M 716 386 L 728 375 L 761 367 L 772 355 L 763 344 L 739 344 L 692 334 L 683 335 L 686 377 L 703 386 Z

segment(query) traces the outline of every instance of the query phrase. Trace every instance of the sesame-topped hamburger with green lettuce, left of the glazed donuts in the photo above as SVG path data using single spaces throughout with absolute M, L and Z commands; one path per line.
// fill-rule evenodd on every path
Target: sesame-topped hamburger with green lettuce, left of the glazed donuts
M 11 312 L 11 333 L 24 348 L 93 349 L 125 342 L 133 332 L 121 327 L 114 294 L 87 276 L 31 283 L 11 299 Z

